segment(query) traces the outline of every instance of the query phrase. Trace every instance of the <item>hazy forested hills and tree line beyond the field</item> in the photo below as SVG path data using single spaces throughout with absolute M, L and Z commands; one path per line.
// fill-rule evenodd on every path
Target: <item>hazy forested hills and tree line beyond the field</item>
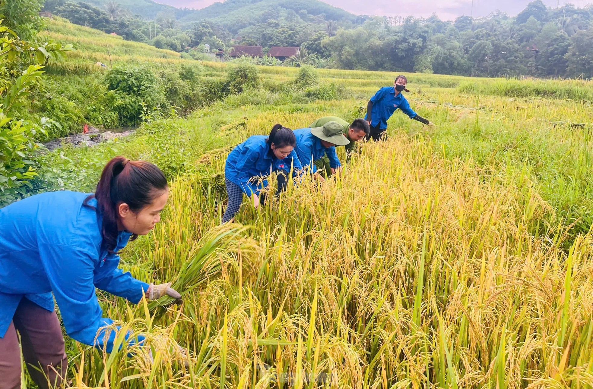
M 353 15 L 317 0 L 227 0 L 200 10 L 135 17 L 126 4 L 103 8 L 84 1 L 47 0 L 46 10 L 75 24 L 116 33 L 126 40 L 182 52 L 194 59 L 208 44 L 227 53 L 232 46 L 300 46 L 288 63 L 339 69 L 390 70 L 464 76 L 593 77 L 593 5 L 549 8 L 530 2 L 516 17 L 495 12 L 454 21 Z M 267 60 L 264 60 L 267 61 Z M 263 64 L 264 62 L 262 62 Z M 265 62 L 267 65 L 270 63 Z

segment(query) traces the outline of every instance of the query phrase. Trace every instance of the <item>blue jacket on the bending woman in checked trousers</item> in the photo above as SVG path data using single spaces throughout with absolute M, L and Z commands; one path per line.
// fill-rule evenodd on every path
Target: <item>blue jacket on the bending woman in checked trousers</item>
M 248 196 L 257 194 L 267 187 L 267 179 L 262 177 L 279 170 L 289 172 L 291 168 L 292 175 L 296 177 L 302 169 L 295 150 L 285 159 L 278 159 L 269 151 L 266 139 L 265 135 L 250 136 L 227 157 L 224 169 L 226 178 L 239 185 Z

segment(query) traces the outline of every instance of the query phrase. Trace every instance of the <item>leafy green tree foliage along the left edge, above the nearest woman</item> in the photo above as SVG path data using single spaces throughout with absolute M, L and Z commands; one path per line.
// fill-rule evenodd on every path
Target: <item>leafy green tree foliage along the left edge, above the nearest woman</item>
M 0 12 L 4 15 L 0 23 L 0 206 L 23 197 L 31 187 L 30 179 L 37 175 L 36 133 L 49 126 L 60 126 L 50 118 L 34 123 L 18 115 L 30 91 L 39 89 L 47 59 L 57 59 L 73 50 L 72 45 L 37 40 L 37 29 L 42 24 L 18 24 L 36 20 L 39 4 L 36 8 L 29 1 L 7 3 L 0 2 Z M 17 26 L 20 35 L 8 25 Z M 25 36 L 31 40 L 24 40 Z

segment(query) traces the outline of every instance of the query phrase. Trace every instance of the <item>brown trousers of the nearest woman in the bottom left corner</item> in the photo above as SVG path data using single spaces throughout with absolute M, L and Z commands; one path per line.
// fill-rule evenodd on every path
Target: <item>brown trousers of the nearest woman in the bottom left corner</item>
M 21 387 L 21 336 L 23 358 L 33 381 L 42 389 L 59 388 L 66 378 L 68 359 L 62 329 L 55 311 L 44 310 L 23 298 L 7 333 L 0 338 L 0 389 Z

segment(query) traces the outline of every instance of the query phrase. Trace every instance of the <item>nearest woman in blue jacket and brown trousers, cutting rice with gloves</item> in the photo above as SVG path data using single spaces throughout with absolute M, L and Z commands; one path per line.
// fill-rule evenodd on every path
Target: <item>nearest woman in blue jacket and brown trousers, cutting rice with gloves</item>
M 107 352 L 113 320 L 103 317 L 95 288 L 133 303 L 143 295 L 180 297 L 170 282 L 149 285 L 117 268 L 120 250 L 152 230 L 167 198 L 157 166 L 115 157 L 95 194 L 47 192 L 0 209 L 0 388 L 21 384 L 17 331 L 36 384 L 63 383 L 67 359 L 54 297 L 66 333 Z

